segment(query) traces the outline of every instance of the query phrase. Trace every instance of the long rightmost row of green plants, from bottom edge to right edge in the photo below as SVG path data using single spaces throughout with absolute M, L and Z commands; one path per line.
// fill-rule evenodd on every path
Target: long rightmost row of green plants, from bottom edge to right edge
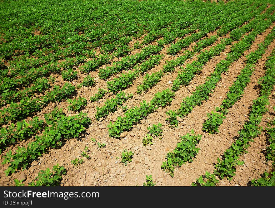
M 262 127 L 259 124 L 262 120 L 262 115 L 268 110 L 268 97 L 275 85 L 274 52 L 273 50 L 271 56 L 266 61 L 265 76 L 259 81 L 261 91 L 259 97 L 253 100 L 247 122 L 238 131 L 239 135 L 235 138 L 234 143 L 223 153 L 221 158 L 217 158 L 214 172 L 212 174 L 208 172 L 205 176 L 199 177 L 196 182 L 192 183 L 192 186 L 215 186 L 219 181 L 218 179 L 222 180 L 224 177 L 230 181 L 236 175 L 236 166 L 244 164 L 244 161 L 240 161 L 239 157 L 247 153 L 250 143 L 262 132 Z

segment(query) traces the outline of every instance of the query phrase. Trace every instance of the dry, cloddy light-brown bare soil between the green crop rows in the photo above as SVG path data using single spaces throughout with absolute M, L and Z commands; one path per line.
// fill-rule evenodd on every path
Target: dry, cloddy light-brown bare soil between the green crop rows
M 221 55 L 209 60 L 207 64 L 203 66 L 202 72 L 193 78 L 190 85 L 182 86 L 178 92 L 175 93 L 175 98 L 170 106 L 159 108 L 155 113 L 148 115 L 146 119 L 134 125 L 131 131 L 123 133 L 121 139 L 109 138 L 107 125 L 110 122 L 114 122 L 118 116 L 123 116 L 122 108 L 118 108 L 116 112 L 110 113 L 105 119 L 101 119 L 100 121 L 96 121 L 94 118 L 96 107 L 101 107 L 107 99 L 114 97 L 114 95 L 108 93 L 100 101 L 91 103 L 89 101 L 90 97 L 97 93 L 98 88 L 107 89 L 107 82 L 99 79 L 98 71 L 91 72 L 90 75 L 95 77 L 96 86 L 92 88 L 81 87 L 78 89 L 76 95 L 76 97 L 81 96 L 88 100 L 88 104 L 86 108 L 83 109 L 83 112 L 87 113 L 93 122 L 87 129 L 87 134 L 83 138 L 68 140 L 60 149 L 50 149 L 49 152 L 40 157 L 39 160 L 32 162 L 30 168 L 16 172 L 12 174 L 12 176 L 5 176 L 4 170 L 8 165 L 1 164 L 0 186 L 14 186 L 14 179 L 25 179 L 24 183 L 27 184 L 35 179 L 40 170 L 45 170 L 47 167 L 52 168 L 57 163 L 63 165 L 68 170 L 67 175 L 63 177 L 62 186 L 142 186 L 146 181 L 146 175 L 153 176 L 153 181 L 157 183 L 156 186 L 191 186 L 192 182 L 195 182 L 199 176 L 204 175 L 206 171 L 213 172 L 217 158 L 221 157 L 223 152 L 230 147 L 238 135 L 237 131 L 239 131 L 247 121 L 252 101 L 253 99 L 257 99 L 259 95 L 260 89 L 258 88 L 257 81 L 265 73 L 264 63 L 274 49 L 275 41 L 268 46 L 266 53 L 256 64 L 255 71 L 251 76 L 250 83 L 245 88 L 243 97 L 229 109 L 226 119 L 223 120 L 219 128 L 220 132 L 216 134 L 202 132 L 202 123 L 207 118 L 207 113 L 210 113 L 216 106 L 222 104 L 222 100 L 226 98 L 226 93 L 229 90 L 228 87 L 232 85 L 233 81 L 236 80 L 240 71 L 245 66 L 245 55 L 257 49 L 257 44 L 264 40 L 274 25 L 275 24 L 272 24 L 266 32 L 257 36 L 251 48 L 244 53 L 244 56 L 241 56 L 240 59 L 233 62 L 229 70 L 222 74 L 222 79 L 217 83 L 210 98 L 200 106 L 195 107 L 192 113 L 186 118 L 180 119 L 178 128 L 169 128 L 165 122 L 167 118 L 166 111 L 169 109 L 178 109 L 183 98 L 190 96 L 196 89 L 196 86 L 204 83 L 206 77 L 213 72 L 217 63 L 226 57 L 226 54 L 230 51 L 230 46 L 228 46 Z M 36 35 L 39 34 L 39 31 L 37 31 Z M 209 34 L 209 36 L 214 34 L 215 32 Z M 134 42 L 135 41 L 130 44 L 133 46 Z M 218 42 L 219 40 L 212 46 Z M 151 44 L 156 44 L 156 42 Z M 175 59 L 180 55 L 180 53 L 177 56 L 167 55 L 167 48 L 168 46 L 161 52 L 164 57 L 160 64 L 147 73 L 151 74 L 162 69 L 166 61 Z M 190 49 L 191 46 L 189 47 L 189 50 Z M 131 54 L 135 54 L 140 50 L 141 49 L 133 50 Z M 196 60 L 196 56 L 194 56 L 192 60 L 187 60 L 186 63 L 191 63 L 193 60 Z M 180 67 L 177 67 L 173 73 L 164 75 L 156 86 L 141 95 L 136 93 L 137 86 L 143 80 L 143 76 L 140 76 L 134 81 L 131 87 L 124 90 L 127 93 L 133 94 L 133 98 L 129 99 L 124 106 L 138 106 L 143 100 L 150 101 L 158 91 L 162 91 L 168 87 L 170 88 L 172 86 L 171 82 L 173 83 L 179 70 Z M 78 80 L 72 82 L 75 86 L 80 84 L 84 78 L 84 75 L 81 74 L 79 70 L 78 72 Z M 108 80 L 112 80 L 116 76 Z M 55 77 L 55 84 L 64 84 L 64 80 L 60 75 L 55 75 Z M 266 127 L 267 123 L 271 119 L 274 119 L 274 92 L 275 89 L 272 91 L 273 96 L 271 95 L 269 98 L 270 105 L 268 106 L 268 112 L 262 118 L 261 126 L 263 127 Z M 43 111 L 38 112 L 36 115 L 43 119 L 43 115 L 55 107 L 63 108 L 67 115 L 74 114 L 74 112 L 67 110 L 68 102 L 63 101 L 60 103 L 50 103 Z M 28 119 L 31 119 L 31 117 Z M 155 139 L 153 145 L 143 146 L 142 139 L 148 132 L 148 126 L 157 123 L 163 124 L 163 138 L 161 140 Z M 175 168 L 174 177 L 171 177 L 169 173 L 161 169 L 162 162 L 165 161 L 166 154 L 174 150 L 176 144 L 180 141 L 180 136 L 189 133 L 192 129 L 194 129 L 196 134 L 202 134 L 202 139 L 197 145 L 197 148 L 200 148 L 200 150 L 193 162 Z M 106 143 L 106 148 L 98 148 L 98 145 L 91 140 L 92 138 L 96 139 L 97 142 Z M 25 146 L 27 142 L 32 140 L 33 138 L 17 145 Z M 226 179 L 219 181 L 218 186 L 247 186 L 248 181 L 259 177 L 259 175 L 266 170 L 271 170 L 271 164 L 265 161 L 262 153 L 262 149 L 264 149 L 266 145 L 264 133 L 255 138 L 254 142 L 250 144 L 251 146 L 247 149 L 248 153 L 240 157 L 245 163 L 242 166 L 236 167 L 236 176 L 233 177 L 232 181 L 227 181 Z M 2 155 L 5 155 L 5 152 L 9 149 L 14 151 L 17 145 L 8 148 Z M 88 146 L 90 150 L 89 155 L 91 159 L 89 160 L 81 156 L 81 152 L 84 151 L 85 146 Z M 133 161 L 129 162 L 127 166 L 120 161 L 124 149 L 131 150 L 134 153 Z M 73 166 L 71 160 L 75 158 L 83 158 L 85 162 L 79 166 Z M 3 159 L 1 159 L 1 162 L 2 160 Z

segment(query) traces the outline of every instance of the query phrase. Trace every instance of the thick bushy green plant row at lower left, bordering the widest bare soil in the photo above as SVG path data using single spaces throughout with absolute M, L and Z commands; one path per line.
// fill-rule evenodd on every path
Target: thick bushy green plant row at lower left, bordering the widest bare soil
M 91 119 L 80 112 L 74 116 L 66 116 L 62 109 L 55 108 L 51 113 L 45 114 L 47 126 L 41 135 L 35 135 L 35 140 L 26 147 L 17 147 L 15 152 L 9 150 L 3 156 L 2 164 L 9 164 L 5 170 L 10 175 L 17 170 L 26 169 L 50 148 L 60 148 L 65 140 L 83 135 L 91 124 Z

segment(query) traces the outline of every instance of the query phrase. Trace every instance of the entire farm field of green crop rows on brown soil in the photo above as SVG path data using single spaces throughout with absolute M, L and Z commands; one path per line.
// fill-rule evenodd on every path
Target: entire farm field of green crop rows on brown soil
M 0 186 L 275 186 L 275 1 L 0 8 Z

